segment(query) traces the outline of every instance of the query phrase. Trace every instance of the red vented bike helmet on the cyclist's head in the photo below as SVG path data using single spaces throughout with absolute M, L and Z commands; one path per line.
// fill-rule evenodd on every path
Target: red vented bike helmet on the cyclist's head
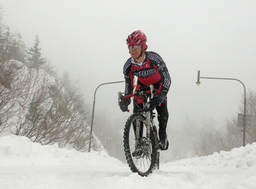
M 134 31 L 132 34 L 128 35 L 126 39 L 127 45 L 142 45 L 143 50 L 146 50 L 148 46 L 146 45 L 147 37 L 145 34 L 138 30 Z

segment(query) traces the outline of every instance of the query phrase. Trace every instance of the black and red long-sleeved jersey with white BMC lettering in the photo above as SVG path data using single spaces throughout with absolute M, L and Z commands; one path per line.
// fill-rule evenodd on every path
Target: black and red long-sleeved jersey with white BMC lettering
M 145 58 L 141 64 L 134 62 L 130 57 L 124 65 L 125 75 L 125 95 L 131 94 L 134 90 L 134 76 L 138 77 L 137 89 L 140 86 L 154 85 L 155 89 L 162 84 L 161 92 L 167 94 L 171 85 L 166 64 L 159 54 L 155 52 L 145 52 Z

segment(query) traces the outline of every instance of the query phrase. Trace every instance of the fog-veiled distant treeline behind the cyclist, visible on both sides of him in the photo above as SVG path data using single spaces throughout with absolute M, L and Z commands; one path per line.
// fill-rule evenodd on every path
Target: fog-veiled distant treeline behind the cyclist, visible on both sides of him
M 246 132 L 246 144 L 256 142 L 256 92 L 247 91 L 247 114 L 252 115 L 252 128 Z M 244 96 L 241 96 L 241 106 L 237 113 L 243 114 Z M 111 114 L 111 110 L 104 108 L 95 116 L 94 133 L 100 138 L 103 148 L 108 154 L 126 162 L 123 148 L 123 132 L 125 121 L 128 115 L 124 117 L 115 117 Z M 158 127 L 157 120 L 154 120 Z M 202 120 L 203 126 L 192 121 L 188 115 L 184 117 L 180 126 L 167 126 L 169 149 L 160 153 L 160 162 L 180 160 L 184 158 L 192 158 L 195 156 L 211 155 L 214 152 L 230 151 L 233 148 L 243 146 L 243 132 L 237 126 L 237 116 L 227 117 L 223 120 L 221 126 L 216 125 L 212 117 Z M 102 148 L 102 149 L 103 149 Z

